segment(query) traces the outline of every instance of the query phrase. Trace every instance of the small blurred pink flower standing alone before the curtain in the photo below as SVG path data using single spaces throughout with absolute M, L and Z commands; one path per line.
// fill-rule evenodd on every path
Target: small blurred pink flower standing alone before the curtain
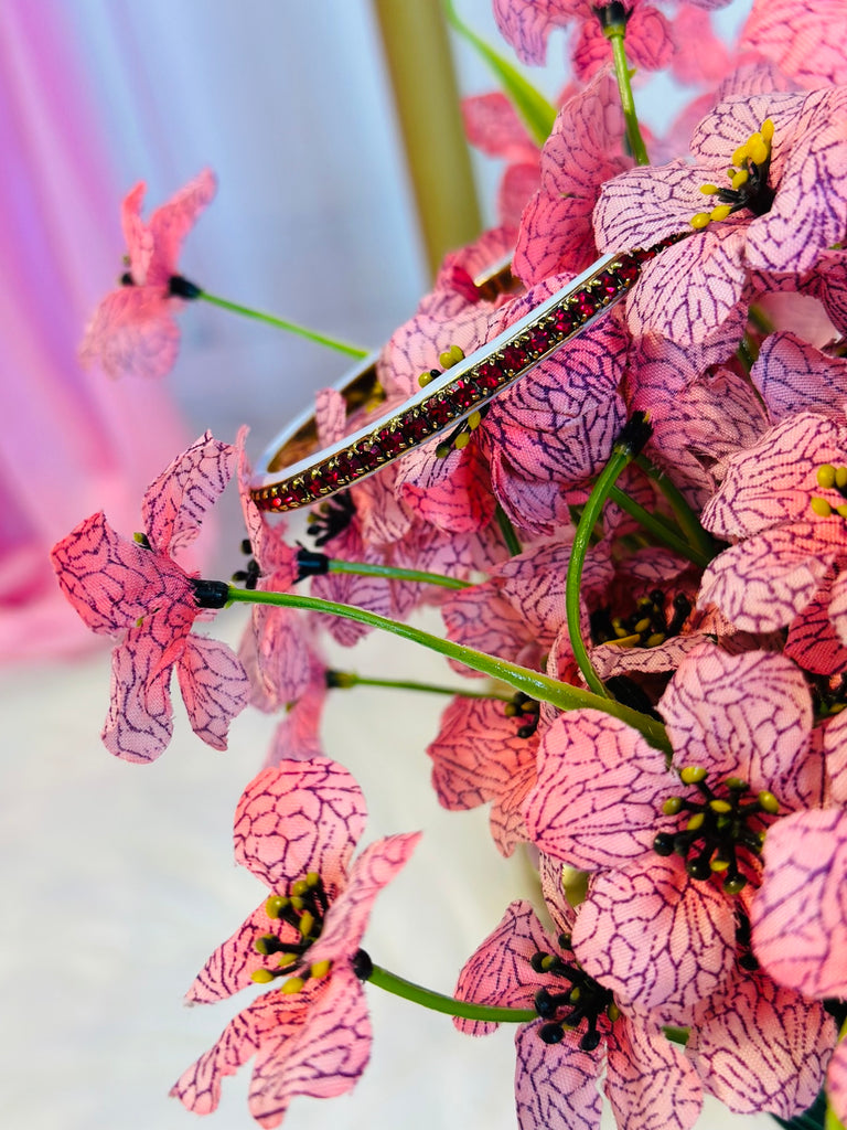
M 197 287 L 180 275 L 176 260 L 185 236 L 215 195 L 215 175 L 203 169 L 161 205 L 146 224 L 141 219 L 145 183 L 125 197 L 122 208 L 129 270 L 117 290 L 110 290 L 95 310 L 80 346 L 84 364 L 99 362 L 110 376 L 165 376 L 180 348 L 174 314 Z

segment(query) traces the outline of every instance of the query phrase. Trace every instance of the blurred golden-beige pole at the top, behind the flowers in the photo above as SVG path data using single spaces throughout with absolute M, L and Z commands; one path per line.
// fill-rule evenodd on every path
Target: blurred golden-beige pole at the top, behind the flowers
M 427 261 L 479 235 L 481 219 L 440 0 L 374 0 Z

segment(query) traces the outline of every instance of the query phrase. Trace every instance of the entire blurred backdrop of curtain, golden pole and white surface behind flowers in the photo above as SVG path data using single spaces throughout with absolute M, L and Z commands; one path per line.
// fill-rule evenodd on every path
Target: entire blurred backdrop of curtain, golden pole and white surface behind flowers
M 457 8 L 509 53 L 489 0 Z M 210 166 L 218 194 L 186 241 L 184 273 L 378 347 L 439 255 L 495 221 L 501 166 L 479 154 L 469 163 L 455 94 L 495 84 L 448 35 L 436 0 L 3 0 L 0 54 L 0 1124 L 184 1130 L 195 1116 L 167 1090 L 241 1002 L 186 1011 L 181 998 L 262 897 L 233 864 L 232 816 L 274 720 L 241 715 L 217 754 L 177 706 L 159 762 L 111 758 L 98 739 L 108 649 L 61 598 L 46 553 L 96 510 L 134 530 L 146 485 L 207 427 L 232 441 L 248 424 L 257 455 L 346 363 L 197 303 L 166 381 L 112 381 L 79 366 L 81 330 L 123 270 L 124 193 L 146 181 L 149 215 Z M 553 98 L 559 36 L 549 58 L 527 75 Z M 661 125 L 673 97 L 660 81 L 645 119 Z M 421 98 L 435 138 L 414 116 Z M 237 520 L 229 498 L 206 548 L 226 572 Z M 216 635 L 235 645 L 242 625 L 228 612 Z M 370 637 L 338 661 L 444 675 L 394 640 Z M 449 992 L 508 901 L 531 890 L 529 870 L 497 855 L 487 814 L 443 812 L 426 788 L 442 702 L 338 694 L 325 748 L 364 788 L 366 840 L 427 833 L 377 905 L 368 948 Z M 510 1033 L 471 1041 L 443 1017 L 368 997 L 372 1068 L 351 1096 L 295 1101 L 287 1125 L 514 1125 Z M 247 1081 L 248 1071 L 227 1081 L 210 1125 L 252 1124 Z M 717 1118 L 734 1124 L 715 1107 L 702 1127 Z

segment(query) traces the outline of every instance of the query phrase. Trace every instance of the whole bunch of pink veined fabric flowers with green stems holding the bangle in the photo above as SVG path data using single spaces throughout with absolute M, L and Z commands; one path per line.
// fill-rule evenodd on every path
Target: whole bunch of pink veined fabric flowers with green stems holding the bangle
M 235 823 L 236 858 L 270 894 L 189 998 L 269 989 L 175 1084 L 190 1110 L 212 1111 L 253 1057 L 264 1127 L 295 1095 L 348 1090 L 370 981 L 474 1035 L 515 1023 L 522 1130 L 597 1127 L 601 1089 L 626 1130 L 686 1130 L 704 1093 L 789 1120 L 824 1088 L 847 1120 L 847 9 L 756 0 L 726 46 L 709 14 L 723 2 L 495 0 L 525 62 L 569 28 L 573 84 L 540 149 L 505 95 L 466 105 L 474 140 L 509 163 L 503 224 L 447 258 L 384 347 L 385 400 L 597 254 L 682 236 L 625 305 L 446 450 L 316 507 L 314 548 L 252 502 L 246 436 L 207 433 L 150 486 L 134 540 L 96 514 L 53 550 L 68 599 L 116 640 L 113 754 L 166 748 L 174 668 L 216 748 L 248 704 L 280 718 Z M 690 87 L 648 139 L 665 163 L 646 159 L 623 46 Z M 213 179 L 149 224 L 141 191 L 124 203 L 125 285 L 84 353 L 160 375 L 174 314 L 202 294 L 177 257 Z M 504 253 L 517 285 L 491 297 L 473 279 Z M 316 416 L 328 444 L 358 426 L 331 390 Z M 233 477 L 251 555 L 237 584 L 177 559 Z M 232 601 L 253 605 L 237 655 L 195 631 Z M 365 801 L 320 729 L 355 679 L 328 670 L 321 635 L 353 645 L 424 605 L 445 638 L 417 638 L 468 679 L 427 749 L 438 801 L 489 805 L 498 850 L 533 851 L 555 924 L 513 902 L 452 1000 L 361 948 L 418 835 L 352 860 Z

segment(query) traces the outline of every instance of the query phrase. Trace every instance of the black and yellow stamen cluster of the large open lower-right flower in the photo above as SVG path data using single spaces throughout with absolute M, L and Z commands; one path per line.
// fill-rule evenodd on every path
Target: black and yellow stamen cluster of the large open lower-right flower
M 736 895 L 750 881 L 740 869 L 739 851 L 761 855 L 767 817 L 779 811 L 772 792 L 762 790 L 749 796 L 750 785 L 740 777 L 727 777 L 718 796 L 706 783 L 706 770 L 689 765 L 680 773 L 683 784 L 693 785 L 701 800 L 669 797 L 662 806 L 665 816 L 688 812 L 682 831 L 661 832 L 653 841 L 660 855 L 681 855 L 692 879 L 723 876 L 724 890 Z

